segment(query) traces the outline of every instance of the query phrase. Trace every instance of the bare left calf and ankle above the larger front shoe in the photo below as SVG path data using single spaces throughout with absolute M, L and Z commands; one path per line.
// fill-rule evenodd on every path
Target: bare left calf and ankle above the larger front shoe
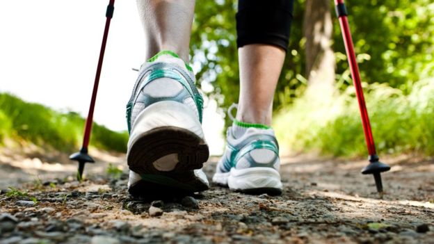
M 145 31 L 145 58 L 161 50 L 174 51 L 188 63 L 194 0 L 137 0 Z

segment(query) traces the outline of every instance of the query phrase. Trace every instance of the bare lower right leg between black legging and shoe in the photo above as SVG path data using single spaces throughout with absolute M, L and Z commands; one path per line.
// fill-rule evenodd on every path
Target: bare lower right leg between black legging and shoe
M 285 51 L 267 44 L 248 44 L 238 49 L 240 95 L 236 120 L 271 125 L 273 97 Z

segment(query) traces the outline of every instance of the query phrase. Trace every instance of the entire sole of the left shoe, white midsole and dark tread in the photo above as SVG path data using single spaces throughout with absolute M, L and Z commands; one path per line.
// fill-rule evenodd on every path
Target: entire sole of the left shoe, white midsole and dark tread
M 195 116 L 192 113 L 184 104 L 161 101 L 138 115 L 129 140 L 127 163 L 141 179 L 129 187 L 131 195 L 191 195 L 209 188 L 207 179 L 201 179 L 194 172 L 208 160 L 209 149 L 200 136 L 203 134 L 200 123 L 188 119 Z M 187 119 L 174 120 L 173 117 Z M 156 163 L 168 155 L 173 156 L 173 162 Z M 156 168 L 165 165 L 171 168 Z

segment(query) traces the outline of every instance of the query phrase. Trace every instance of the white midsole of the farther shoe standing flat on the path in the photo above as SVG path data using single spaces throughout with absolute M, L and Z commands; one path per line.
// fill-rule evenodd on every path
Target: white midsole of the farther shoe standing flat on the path
M 255 188 L 282 189 L 282 182 L 280 181 L 279 172 L 273 168 L 255 167 L 241 170 L 232 168 L 227 177 L 227 186 L 229 186 L 231 190 Z

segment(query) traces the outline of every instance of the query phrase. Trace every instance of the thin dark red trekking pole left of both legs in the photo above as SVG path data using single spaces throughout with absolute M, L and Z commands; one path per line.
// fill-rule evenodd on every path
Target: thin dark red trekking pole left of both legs
M 99 76 L 101 75 L 102 60 L 104 59 L 104 51 L 106 50 L 107 36 L 109 35 L 110 20 L 113 17 L 113 11 L 115 10 L 115 0 L 109 0 L 109 5 L 106 10 L 106 26 L 104 29 L 104 35 L 102 37 L 101 51 L 99 51 L 99 60 L 97 66 L 97 74 L 95 75 L 95 83 L 93 84 L 92 98 L 90 99 L 89 113 L 86 118 L 86 124 L 84 127 L 83 145 L 80 152 L 76 152 L 70 156 L 71 160 L 79 162 L 79 170 L 77 172 L 77 179 L 81 181 L 83 177 L 84 165 L 86 163 L 95 163 L 95 160 L 88 154 L 88 145 L 90 140 L 90 131 L 92 131 L 93 123 L 93 111 L 95 108 L 95 100 L 97 99 Z

